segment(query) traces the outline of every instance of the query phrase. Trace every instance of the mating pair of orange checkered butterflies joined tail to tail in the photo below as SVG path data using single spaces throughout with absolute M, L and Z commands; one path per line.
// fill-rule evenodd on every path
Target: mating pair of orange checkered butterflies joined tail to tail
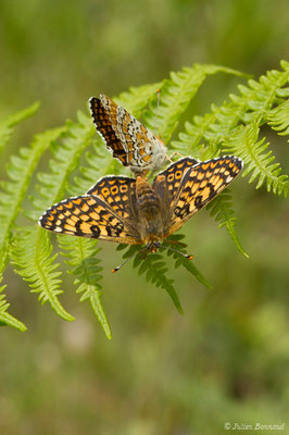
M 163 239 L 227 187 L 242 169 L 237 157 L 205 162 L 183 158 L 160 172 L 151 185 L 143 175 L 164 162 L 163 142 L 105 96 L 91 98 L 90 109 L 106 147 L 135 172 L 136 178 L 104 176 L 86 195 L 52 206 L 39 220 L 46 229 L 144 244 L 154 252 Z

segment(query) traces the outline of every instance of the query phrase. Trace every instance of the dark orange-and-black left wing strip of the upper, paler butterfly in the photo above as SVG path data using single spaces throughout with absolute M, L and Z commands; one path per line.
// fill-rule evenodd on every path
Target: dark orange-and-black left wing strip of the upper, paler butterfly
M 112 101 L 112 100 L 111 100 Z M 116 119 L 117 105 L 113 103 L 113 115 Z M 115 127 L 111 120 L 111 114 L 108 112 L 99 98 L 91 97 L 89 99 L 90 112 L 96 125 L 97 132 L 106 144 L 106 148 L 112 151 L 113 157 L 118 159 L 123 165 L 127 166 L 127 149 L 124 148 L 122 140 L 115 134 Z

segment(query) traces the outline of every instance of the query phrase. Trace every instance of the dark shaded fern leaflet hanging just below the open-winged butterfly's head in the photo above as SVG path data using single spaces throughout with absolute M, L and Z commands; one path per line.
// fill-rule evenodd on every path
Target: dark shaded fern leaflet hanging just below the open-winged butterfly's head
M 123 250 L 124 248 L 127 248 L 127 246 L 120 244 L 116 250 Z M 139 247 L 131 245 L 123 254 L 123 259 L 128 259 L 138 251 Z M 172 298 L 178 312 L 180 314 L 184 314 L 180 301 L 173 285 L 174 279 L 169 279 L 166 277 L 166 272 L 168 271 L 168 269 L 166 268 L 165 262 L 162 260 L 163 257 L 159 253 L 140 252 L 139 256 L 135 257 L 133 266 L 135 269 L 138 268 L 139 275 L 146 273 L 146 279 L 148 283 L 152 283 L 156 287 L 164 288 Z

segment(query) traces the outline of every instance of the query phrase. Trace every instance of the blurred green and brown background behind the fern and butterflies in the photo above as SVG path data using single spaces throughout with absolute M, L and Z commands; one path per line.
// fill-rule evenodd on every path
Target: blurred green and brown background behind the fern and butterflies
M 217 63 L 255 77 L 279 69 L 288 28 L 286 0 L 2 1 L 0 117 L 41 102 L 9 151 L 87 110 L 92 95 L 114 96 L 184 65 Z M 238 82 L 211 77 L 191 112 L 222 102 Z M 288 170 L 286 139 L 275 145 Z M 77 320 L 65 323 L 5 273 L 10 311 L 28 332 L 0 328 L 1 435 L 206 435 L 229 433 L 225 422 L 286 423 L 279 433 L 288 433 L 288 200 L 243 178 L 233 192 L 250 260 L 208 211 L 193 217 L 188 251 L 214 289 L 172 269 L 185 316 L 131 265 L 112 275 L 121 253 L 110 244 L 103 304 L 112 340 L 70 277 L 61 300 Z

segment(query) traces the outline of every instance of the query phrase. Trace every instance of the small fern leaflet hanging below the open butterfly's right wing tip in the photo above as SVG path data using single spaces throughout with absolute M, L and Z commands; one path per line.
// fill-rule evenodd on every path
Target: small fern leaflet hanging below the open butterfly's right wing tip
M 243 250 L 239 238 L 236 234 L 235 226 L 237 217 L 235 216 L 233 209 L 233 198 L 229 189 L 222 192 L 212 202 L 206 206 L 208 210 L 211 210 L 211 216 L 215 216 L 216 222 L 219 222 L 218 227 L 226 227 L 229 236 L 235 243 L 237 249 L 246 257 L 249 258 L 248 253 Z

